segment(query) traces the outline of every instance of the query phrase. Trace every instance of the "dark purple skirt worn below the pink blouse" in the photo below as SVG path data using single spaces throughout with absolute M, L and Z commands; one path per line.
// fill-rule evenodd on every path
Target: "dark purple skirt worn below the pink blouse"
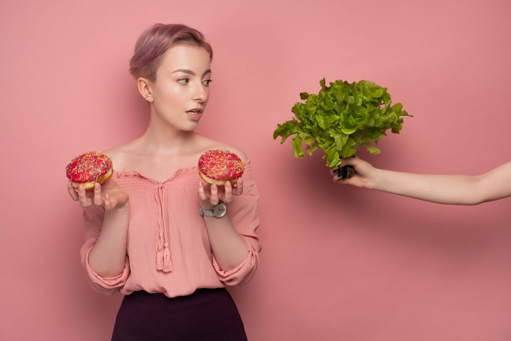
M 188 296 L 134 291 L 117 313 L 112 341 L 246 341 L 240 313 L 225 288 Z

